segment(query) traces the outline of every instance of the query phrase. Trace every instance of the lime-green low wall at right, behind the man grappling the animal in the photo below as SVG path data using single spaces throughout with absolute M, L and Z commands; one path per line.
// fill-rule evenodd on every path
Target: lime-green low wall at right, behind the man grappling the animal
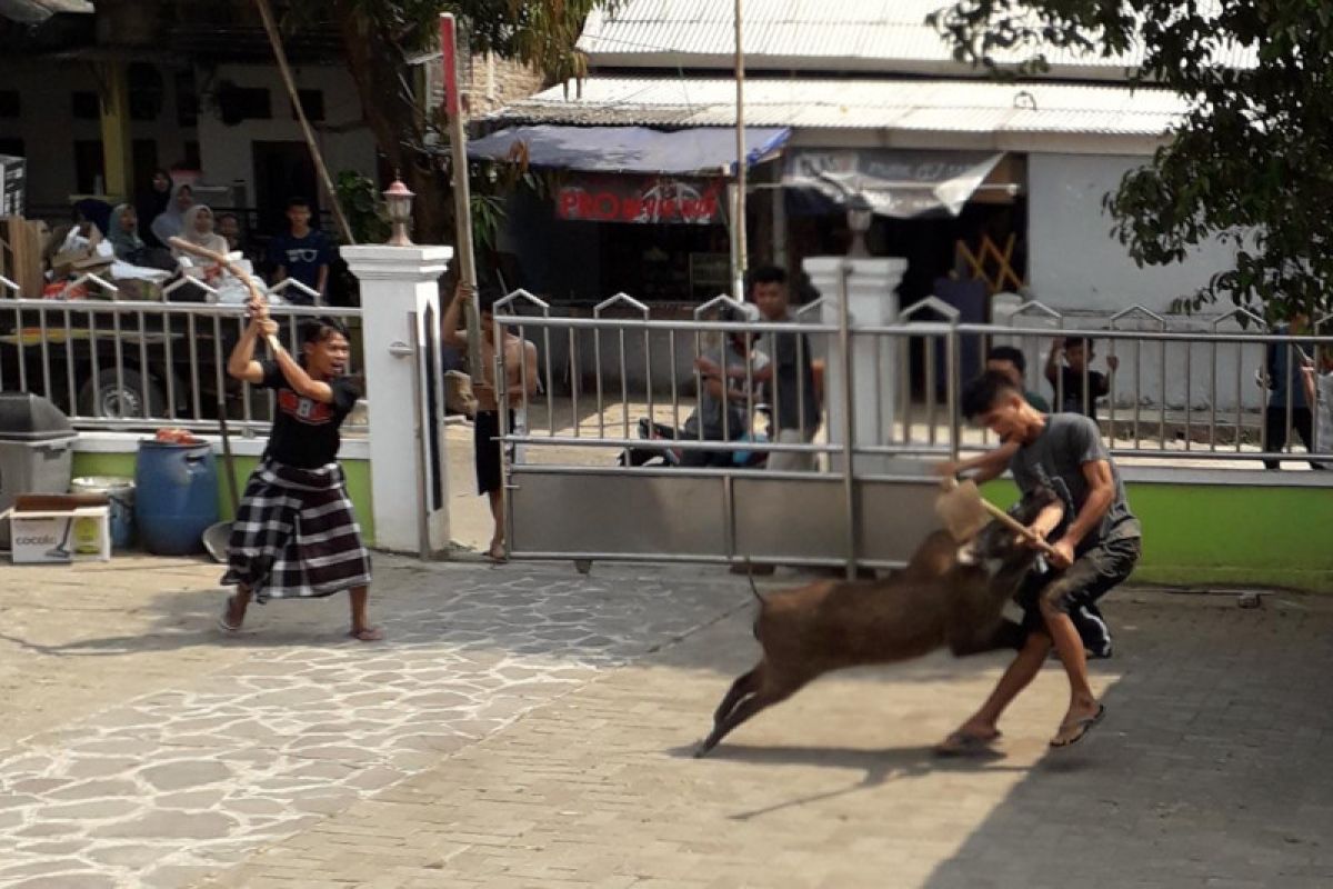
M 985 493 L 1012 504 L 1017 488 Z M 1126 482 L 1144 525 L 1134 582 L 1290 586 L 1333 592 L 1333 490 L 1257 485 Z

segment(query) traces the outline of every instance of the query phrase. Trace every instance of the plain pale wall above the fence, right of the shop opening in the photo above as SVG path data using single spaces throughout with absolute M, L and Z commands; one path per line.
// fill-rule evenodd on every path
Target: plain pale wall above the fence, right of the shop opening
M 1146 157 L 1028 156 L 1028 281 L 1036 299 L 1061 311 L 1116 312 L 1141 304 L 1154 312 L 1232 268 L 1230 247 L 1208 244 L 1185 263 L 1138 268 L 1110 235 L 1101 200 Z

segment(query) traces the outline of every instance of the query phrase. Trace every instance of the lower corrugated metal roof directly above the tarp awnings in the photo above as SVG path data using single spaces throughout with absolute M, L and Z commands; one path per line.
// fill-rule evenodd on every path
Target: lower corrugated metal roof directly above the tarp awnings
M 733 127 L 730 79 L 591 77 L 491 116 L 509 123 Z M 745 124 L 816 129 L 1161 136 L 1186 111 L 1165 89 L 988 80 L 748 80 Z

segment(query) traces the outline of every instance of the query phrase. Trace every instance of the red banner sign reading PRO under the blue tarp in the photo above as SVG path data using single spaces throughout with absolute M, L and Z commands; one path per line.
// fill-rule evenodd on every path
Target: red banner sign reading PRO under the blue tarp
M 722 183 L 661 176 L 581 176 L 556 195 L 560 219 L 640 225 L 721 223 Z

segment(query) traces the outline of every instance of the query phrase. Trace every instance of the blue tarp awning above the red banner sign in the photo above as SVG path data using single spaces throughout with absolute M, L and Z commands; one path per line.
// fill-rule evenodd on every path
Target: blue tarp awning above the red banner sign
M 786 144 L 785 127 L 748 127 L 749 165 Z M 736 131 L 700 127 L 665 132 L 647 127 L 511 127 L 468 144 L 473 159 L 515 160 L 532 167 L 588 173 L 721 173 L 736 167 Z

